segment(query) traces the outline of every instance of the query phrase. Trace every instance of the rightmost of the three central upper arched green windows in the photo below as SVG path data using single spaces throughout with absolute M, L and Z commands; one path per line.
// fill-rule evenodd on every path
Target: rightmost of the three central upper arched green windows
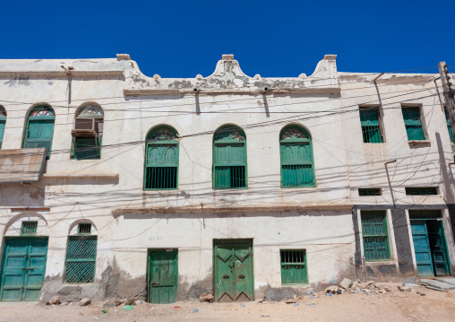
M 302 126 L 286 126 L 279 133 L 281 187 L 315 187 L 311 135 Z

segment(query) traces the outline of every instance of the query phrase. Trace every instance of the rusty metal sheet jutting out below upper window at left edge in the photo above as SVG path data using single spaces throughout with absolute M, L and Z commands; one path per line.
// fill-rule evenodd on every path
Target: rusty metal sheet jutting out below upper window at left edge
M 46 148 L 0 150 L 0 183 L 38 181 L 46 153 Z

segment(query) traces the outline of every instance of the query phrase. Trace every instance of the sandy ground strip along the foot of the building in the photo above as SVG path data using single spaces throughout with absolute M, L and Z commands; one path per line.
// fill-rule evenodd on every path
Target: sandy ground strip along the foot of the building
M 425 290 L 425 296 L 416 290 Z M 1 302 L 0 322 L 9 321 L 455 321 L 455 291 L 414 288 L 383 295 L 343 293 L 305 296 L 298 305 L 284 302 L 200 303 L 135 305 L 133 310 L 107 308 L 103 303 L 81 307 L 77 303 L 46 306 L 37 302 Z M 313 303 L 309 305 L 308 303 Z M 180 308 L 174 309 L 174 306 Z M 193 312 L 198 309 L 198 312 Z

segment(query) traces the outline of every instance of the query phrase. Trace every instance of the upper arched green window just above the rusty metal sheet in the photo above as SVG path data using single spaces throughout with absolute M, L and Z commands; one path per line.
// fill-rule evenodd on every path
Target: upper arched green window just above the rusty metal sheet
M 52 150 L 54 123 L 56 114 L 54 109 L 47 105 L 39 105 L 30 110 L 27 118 L 27 128 L 23 140 L 24 149 L 47 148 L 47 159 Z

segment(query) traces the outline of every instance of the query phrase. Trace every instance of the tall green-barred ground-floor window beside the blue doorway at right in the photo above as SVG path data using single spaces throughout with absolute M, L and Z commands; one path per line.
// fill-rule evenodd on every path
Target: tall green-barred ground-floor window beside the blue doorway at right
M 387 216 L 384 210 L 361 211 L 364 257 L 367 262 L 391 260 Z

